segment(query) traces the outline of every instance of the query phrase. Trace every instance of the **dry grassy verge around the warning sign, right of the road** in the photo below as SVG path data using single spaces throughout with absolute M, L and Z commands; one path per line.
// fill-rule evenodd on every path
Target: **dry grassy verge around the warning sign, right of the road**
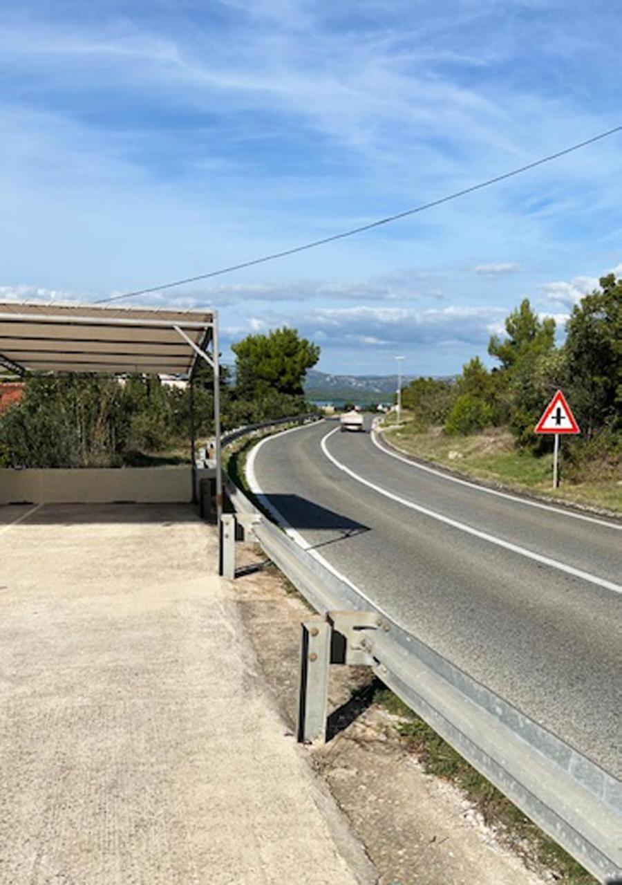
M 552 453 L 535 457 L 529 451 L 514 448 L 511 434 L 491 429 L 472 436 L 447 436 L 441 427 L 421 431 L 412 422 L 389 427 L 386 438 L 405 454 L 449 467 L 467 478 L 493 482 L 514 491 L 530 491 L 560 502 L 584 504 L 614 513 L 622 513 L 622 469 L 603 470 L 603 479 L 583 482 L 564 481 L 561 459 L 561 485 L 551 488 Z

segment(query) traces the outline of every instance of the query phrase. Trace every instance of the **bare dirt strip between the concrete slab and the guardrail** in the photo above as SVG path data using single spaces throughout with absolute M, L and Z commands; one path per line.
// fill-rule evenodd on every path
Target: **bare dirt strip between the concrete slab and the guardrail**
M 234 587 L 260 666 L 293 731 L 300 622 L 310 609 L 262 560 L 257 547 L 238 545 L 242 576 Z M 328 731 L 336 734 L 308 754 L 364 843 L 379 885 L 542 885 L 457 789 L 424 773 L 398 734 L 399 720 L 370 703 L 369 683 L 365 668 L 331 668 Z

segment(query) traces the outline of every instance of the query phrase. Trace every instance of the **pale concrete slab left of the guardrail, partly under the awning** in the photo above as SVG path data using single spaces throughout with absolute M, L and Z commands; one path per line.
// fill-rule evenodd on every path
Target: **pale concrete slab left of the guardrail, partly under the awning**
M 0 508 L 0 881 L 372 881 L 273 709 L 213 529 L 183 505 L 18 510 Z

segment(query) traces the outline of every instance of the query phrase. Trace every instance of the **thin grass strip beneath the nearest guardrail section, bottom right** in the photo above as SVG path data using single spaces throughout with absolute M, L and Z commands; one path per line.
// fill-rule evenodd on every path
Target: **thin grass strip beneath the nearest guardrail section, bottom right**
M 374 701 L 400 717 L 398 731 L 424 771 L 461 789 L 503 844 L 518 852 L 527 866 L 539 873 L 551 874 L 554 881 L 563 885 L 595 885 L 597 880 L 590 873 L 536 827 L 392 691 L 379 689 Z

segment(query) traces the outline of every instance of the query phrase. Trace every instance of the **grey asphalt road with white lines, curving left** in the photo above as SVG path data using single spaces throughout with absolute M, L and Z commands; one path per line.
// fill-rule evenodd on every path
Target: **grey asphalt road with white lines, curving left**
M 489 494 L 335 428 L 261 445 L 273 506 L 419 640 L 622 778 L 619 524 Z

